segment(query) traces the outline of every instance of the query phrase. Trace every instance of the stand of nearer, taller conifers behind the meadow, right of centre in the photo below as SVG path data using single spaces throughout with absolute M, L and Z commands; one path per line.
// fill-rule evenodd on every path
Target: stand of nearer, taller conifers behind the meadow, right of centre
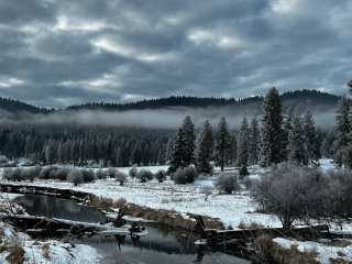
M 231 132 L 226 118 L 221 118 L 213 131 L 209 121 L 196 136 L 190 117 L 178 129 L 170 172 L 195 164 L 199 173 L 209 174 L 212 162 L 224 169 L 228 165 L 240 166 L 248 174 L 249 165 L 271 166 L 285 161 L 309 165 L 321 157 L 321 142 L 328 133 L 316 128 L 312 114 L 283 114 L 282 100 L 276 88 L 264 99 L 264 117 L 260 121 L 243 118 L 237 132 Z M 323 154 L 329 154 L 323 150 Z

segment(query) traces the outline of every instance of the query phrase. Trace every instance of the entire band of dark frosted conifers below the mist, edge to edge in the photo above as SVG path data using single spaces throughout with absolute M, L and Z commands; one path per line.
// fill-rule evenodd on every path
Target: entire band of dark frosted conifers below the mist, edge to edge
M 201 174 L 211 174 L 215 165 L 246 168 L 290 161 L 306 166 L 321 156 L 334 156 L 342 165 L 352 160 L 352 147 L 351 152 L 345 147 L 351 138 L 348 99 L 343 98 L 336 129 L 330 131 L 318 129 L 310 112 L 285 114 L 275 88 L 265 97 L 263 109 L 263 118 L 244 118 L 239 129 L 230 129 L 226 117 L 213 128 L 209 121 L 196 127 L 193 118 L 186 117 L 176 133 L 120 127 L 3 125 L 0 153 L 43 164 L 168 164 L 169 172 L 195 165 Z

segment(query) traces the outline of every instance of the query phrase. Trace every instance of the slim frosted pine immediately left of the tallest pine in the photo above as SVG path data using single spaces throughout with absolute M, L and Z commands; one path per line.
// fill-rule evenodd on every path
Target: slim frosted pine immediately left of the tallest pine
M 260 124 L 256 118 L 251 121 L 251 128 L 249 133 L 249 162 L 254 165 L 260 161 L 261 153 L 261 131 Z

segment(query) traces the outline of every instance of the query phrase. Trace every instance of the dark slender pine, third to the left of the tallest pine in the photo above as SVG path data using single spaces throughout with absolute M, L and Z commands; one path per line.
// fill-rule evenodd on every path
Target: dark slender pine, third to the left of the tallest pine
M 228 129 L 228 123 L 226 118 L 221 118 L 220 123 L 218 125 L 218 131 L 216 134 L 216 155 L 217 155 L 217 163 L 221 167 L 221 172 L 224 168 L 227 163 L 227 150 L 230 145 L 230 133 Z

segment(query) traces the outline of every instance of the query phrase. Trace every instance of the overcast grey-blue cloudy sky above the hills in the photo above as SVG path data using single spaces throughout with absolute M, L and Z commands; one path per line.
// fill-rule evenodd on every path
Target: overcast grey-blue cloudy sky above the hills
M 0 0 L 0 96 L 342 94 L 351 26 L 351 0 Z

